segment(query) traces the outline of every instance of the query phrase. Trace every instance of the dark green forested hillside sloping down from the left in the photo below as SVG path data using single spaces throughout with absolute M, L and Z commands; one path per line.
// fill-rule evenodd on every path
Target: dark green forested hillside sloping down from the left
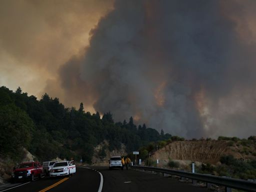
M 168 139 L 164 134 L 145 124 L 136 126 L 132 117 L 114 122 L 111 112 L 100 118 L 80 107 L 67 108 L 58 98 L 47 93 L 38 100 L 18 87 L 16 91 L 0 87 L 0 156 L 19 160 L 26 148 L 38 160 L 55 157 L 84 159 L 91 162 L 93 147 L 103 140 L 109 149 L 118 149 L 123 143 L 126 151 L 138 149 L 151 141 Z M 104 153 L 104 151 L 101 151 Z

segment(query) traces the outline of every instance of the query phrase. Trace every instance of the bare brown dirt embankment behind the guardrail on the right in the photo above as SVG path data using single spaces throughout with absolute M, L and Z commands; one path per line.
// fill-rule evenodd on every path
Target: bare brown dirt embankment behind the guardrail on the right
M 255 146 L 247 148 L 255 150 Z M 244 146 L 227 140 L 173 141 L 154 152 L 152 159 L 180 159 L 216 164 L 221 156 L 228 154 L 235 158 L 250 158 L 251 154 L 245 154 L 243 150 Z

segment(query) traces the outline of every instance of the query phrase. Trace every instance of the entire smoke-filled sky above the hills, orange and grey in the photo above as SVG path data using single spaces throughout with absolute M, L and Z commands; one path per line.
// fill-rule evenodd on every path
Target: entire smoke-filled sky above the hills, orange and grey
M 255 0 L 1 0 L 0 85 L 186 138 L 256 134 Z

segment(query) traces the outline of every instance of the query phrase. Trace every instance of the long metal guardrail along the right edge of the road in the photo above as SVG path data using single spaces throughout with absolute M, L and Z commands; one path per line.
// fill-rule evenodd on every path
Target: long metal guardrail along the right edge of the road
M 221 176 L 215 176 L 215 175 L 209 175 L 209 174 L 192 173 L 192 172 L 185 172 L 180 170 L 170 170 L 166 168 L 156 168 L 156 167 L 150 167 L 150 166 L 131 166 L 131 168 L 177 175 L 181 177 L 191 178 L 193 180 L 205 181 L 207 183 L 213 183 L 213 184 L 222 185 L 230 188 L 241 189 L 245 191 L 256 191 L 256 182 L 247 181 L 243 179 L 221 177 Z

